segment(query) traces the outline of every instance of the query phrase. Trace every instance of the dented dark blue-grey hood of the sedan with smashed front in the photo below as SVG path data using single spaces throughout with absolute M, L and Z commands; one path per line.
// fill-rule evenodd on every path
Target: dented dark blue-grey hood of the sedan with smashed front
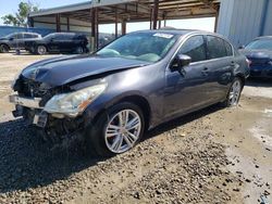
M 27 66 L 25 78 L 51 86 L 62 86 L 74 80 L 108 72 L 146 66 L 150 63 L 123 58 L 101 58 L 96 55 L 60 56 L 44 60 Z

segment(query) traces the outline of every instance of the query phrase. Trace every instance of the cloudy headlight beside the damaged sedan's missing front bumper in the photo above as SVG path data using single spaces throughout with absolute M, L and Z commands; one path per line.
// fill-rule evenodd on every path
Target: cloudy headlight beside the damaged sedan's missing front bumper
M 100 84 L 75 92 L 57 94 L 47 102 L 45 111 L 75 117 L 83 113 L 106 88 L 107 84 Z

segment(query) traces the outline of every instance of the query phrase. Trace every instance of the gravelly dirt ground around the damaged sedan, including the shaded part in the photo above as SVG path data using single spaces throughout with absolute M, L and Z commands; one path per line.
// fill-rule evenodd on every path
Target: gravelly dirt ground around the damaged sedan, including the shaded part
M 272 203 L 272 81 L 250 80 L 237 107 L 177 118 L 101 160 L 51 150 L 10 114 L 15 75 L 51 56 L 0 55 L 0 203 Z

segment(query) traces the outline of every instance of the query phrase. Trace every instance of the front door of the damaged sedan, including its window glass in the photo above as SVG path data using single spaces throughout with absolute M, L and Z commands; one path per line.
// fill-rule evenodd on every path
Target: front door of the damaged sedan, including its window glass
M 205 106 L 210 99 L 209 74 L 207 73 L 206 43 L 202 35 L 188 38 L 177 54 L 191 58 L 189 66 L 184 74 L 166 71 L 166 88 L 164 100 L 164 115 L 172 117 Z

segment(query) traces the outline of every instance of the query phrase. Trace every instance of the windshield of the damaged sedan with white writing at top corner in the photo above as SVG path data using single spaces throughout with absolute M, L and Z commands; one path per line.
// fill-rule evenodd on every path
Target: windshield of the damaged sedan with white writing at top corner
M 136 33 L 119 38 L 97 54 L 157 62 L 165 56 L 176 39 L 176 35 L 165 33 Z

